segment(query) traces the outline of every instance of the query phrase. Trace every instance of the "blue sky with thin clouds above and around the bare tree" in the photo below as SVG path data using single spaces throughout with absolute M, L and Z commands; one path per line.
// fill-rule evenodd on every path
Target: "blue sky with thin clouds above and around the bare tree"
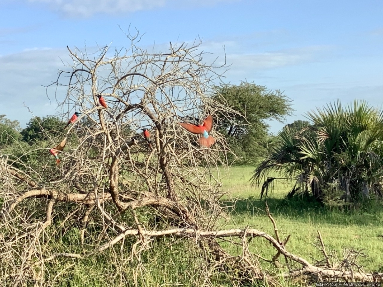
M 1 0 L 0 11 L 0 114 L 22 127 L 57 113 L 43 85 L 64 68 L 66 46 L 122 47 L 129 24 L 145 33 L 141 47 L 199 36 L 204 51 L 226 51 L 223 82 L 284 91 L 295 109 L 286 123 L 338 98 L 383 104 L 381 0 Z

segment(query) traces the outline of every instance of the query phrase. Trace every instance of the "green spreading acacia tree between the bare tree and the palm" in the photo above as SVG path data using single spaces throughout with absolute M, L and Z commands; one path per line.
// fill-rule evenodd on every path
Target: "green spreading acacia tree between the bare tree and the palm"
M 267 150 L 268 120 L 282 121 L 291 109 L 291 100 L 281 91 L 241 82 L 215 87 L 213 99 L 225 101 L 236 113 L 219 117 L 219 131 L 241 163 L 256 163 Z

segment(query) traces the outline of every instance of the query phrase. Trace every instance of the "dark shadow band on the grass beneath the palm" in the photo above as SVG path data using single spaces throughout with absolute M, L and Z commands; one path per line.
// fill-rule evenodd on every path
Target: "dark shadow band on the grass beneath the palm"
M 289 220 L 311 223 L 328 223 L 336 225 L 383 225 L 383 205 L 380 201 L 365 202 L 352 209 L 347 207 L 329 207 L 310 196 L 295 196 L 293 198 L 267 198 L 271 214 L 276 219 L 283 217 Z M 239 199 L 234 206 L 231 201 L 224 201 L 229 211 L 236 216 L 244 214 L 266 216 L 265 201 L 250 196 Z

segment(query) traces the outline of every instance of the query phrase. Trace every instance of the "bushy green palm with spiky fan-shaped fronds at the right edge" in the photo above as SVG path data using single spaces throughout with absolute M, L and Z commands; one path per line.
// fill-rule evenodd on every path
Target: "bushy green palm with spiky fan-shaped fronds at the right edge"
M 383 112 L 365 101 L 343 107 L 340 101 L 307 113 L 309 126 L 286 126 L 277 145 L 257 166 L 252 182 L 261 183 L 271 171 L 295 179 L 296 186 L 322 200 L 334 186 L 345 201 L 370 192 L 382 196 Z M 268 179 L 261 196 L 267 191 Z

